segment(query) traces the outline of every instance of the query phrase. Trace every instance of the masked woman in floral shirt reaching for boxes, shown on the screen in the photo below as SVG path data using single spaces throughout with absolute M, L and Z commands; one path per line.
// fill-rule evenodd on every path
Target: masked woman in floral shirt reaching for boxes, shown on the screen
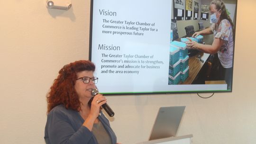
M 231 76 L 233 72 L 233 50 L 234 50 L 234 24 L 227 14 L 225 4 L 221 0 L 212 0 L 210 3 L 211 27 L 195 32 L 192 37 L 198 35 L 213 34 L 212 45 L 203 45 L 194 41 L 187 42 L 189 49 L 197 49 L 208 54 L 218 53 L 219 57 L 219 80 L 225 80 L 228 89 L 231 88 Z

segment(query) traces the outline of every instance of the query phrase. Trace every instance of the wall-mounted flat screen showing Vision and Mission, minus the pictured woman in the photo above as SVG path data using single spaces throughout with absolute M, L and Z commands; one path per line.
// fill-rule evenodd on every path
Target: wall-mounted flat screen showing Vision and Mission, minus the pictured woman
M 227 13 L 235 27 L 237 0 L 226 1 Z M 89 59 L 96 65 L 94 76 L 99 78 L 96 85 L 100 92 L 105 95 L 231 92 L 235 37 L 225 36 L 232 35 L 235 28 L 225 36 L 218 34 L 228 48 L 221 46 L 209 53 L 188 49 L 186 45 L 187 40 L 213 45 L 216 33 L 192 38 L 193 33 L 213 25 L 210 2 L 91 0 Z M 202 4 L 206 6 L 201 8 Z M 187 30 L 187 26 L 192 28 Z M 218 33 L 219 29 L 216 30 Z

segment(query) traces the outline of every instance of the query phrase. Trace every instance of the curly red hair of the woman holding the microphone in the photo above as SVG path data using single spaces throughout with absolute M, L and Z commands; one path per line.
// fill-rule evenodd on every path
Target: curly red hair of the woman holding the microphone
M 67 109 L 80 110 L 80 100 L 74 89 L 77 79 L 77 72 L 95 71 L 95 65 L 90 61 L 75 61 L 64 65 L 59 71 L 58 77 L 54 80 L 47 98 L 47 113 L 55 106 L 63 104 Z

